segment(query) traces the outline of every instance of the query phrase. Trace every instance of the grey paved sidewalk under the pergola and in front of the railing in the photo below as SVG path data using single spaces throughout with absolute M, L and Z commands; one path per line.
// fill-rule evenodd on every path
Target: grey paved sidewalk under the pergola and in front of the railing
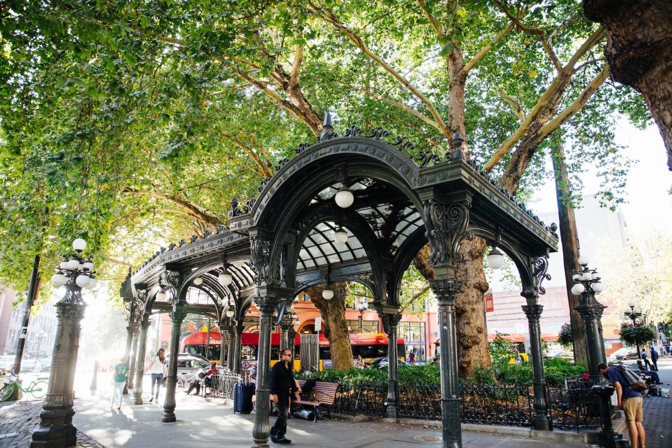
M 174 423 L 161 423 L 161 407 L 153 404 L 123 405 L 121 411 L 109 409 L 103 398 L 79 398 L 79 411 L 74 417 L 78 429 L 107 448 L 156 447 L 162 448 L 221 446 L 250 448 L 253 445 L 254 416 L 233 414 L 231 403 L 223 400 L 205 401 L 202 397 L 178 393 L 178 407 Z M 129 399 L 130 400 L 130 399 Z M 159 400 L 161 402 L 161 400 Z M 270 422 L 274 421 L 274 417 Z M 290 419 L 287 438 L 296 447 L 334 448 L 401 448 L 440 447 L 441 432 L 408 425 L 384 422 L 347 422 L 323 420 L 312 422 Z M 465 447 L 521 448 L 521 447 L 587 447 L 546 440 L 533 440 L 477 431 L 462 433 Z M 272 445 L 272 444 L 271 444 Z

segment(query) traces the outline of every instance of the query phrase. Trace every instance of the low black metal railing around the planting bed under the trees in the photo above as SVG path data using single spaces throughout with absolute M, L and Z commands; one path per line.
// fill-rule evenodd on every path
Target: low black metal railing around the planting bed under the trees
M 578 385 L 578 383 L 568 383 Z M 598 400 L 588 387 L 547 386 L 553 428 L 583 431 L 600 427 Z M 338 414 L 384 416 L 387 382 L 338 385 L 332 410 Z M 463 423 L 531 427 L 534 414 L 531 385 L 462 385 Z M 436 384 L 400 385 L 398 417 L 441 420 L 441 388 Z

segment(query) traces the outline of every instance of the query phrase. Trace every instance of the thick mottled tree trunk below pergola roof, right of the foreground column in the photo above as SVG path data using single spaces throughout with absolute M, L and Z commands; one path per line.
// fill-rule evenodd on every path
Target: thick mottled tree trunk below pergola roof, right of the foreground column
M 458 324 L 458 367 L 460 377 L 474 374 L 474 367 L 492 365 L 485 321 L 485 298 L 488 283 L 483 272 L 483 255 L 487 244 L 482 238 L 462 241 L 460 254 L 465 261 L 458 263 L 457 278 L 464 282 L 455 301 Z

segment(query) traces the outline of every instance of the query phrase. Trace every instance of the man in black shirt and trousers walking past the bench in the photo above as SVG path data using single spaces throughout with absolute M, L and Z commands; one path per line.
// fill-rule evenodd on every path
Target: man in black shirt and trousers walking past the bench
M 285 445 L 292 443 L 292 440 L 285 438 L 289 415 L 289 394 L 298 392 L 291 362 L 292 352 L 283 350 L 280 362 L 271 368 L 271 400 L 278 405 L 278 418 L 271 428 L 271 441 Z

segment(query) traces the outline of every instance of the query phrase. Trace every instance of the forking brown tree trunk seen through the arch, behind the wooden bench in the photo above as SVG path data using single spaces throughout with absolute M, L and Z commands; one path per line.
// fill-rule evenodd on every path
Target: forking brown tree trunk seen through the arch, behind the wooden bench
M 325 321 L 324 333 L 332 352 L 332 367 L 347 370 L 352 367 L 352 347 L 345 323 L 345 296 L 349 283 L 334 282 L 329 284 L 329 288 L 334 291 L 334 297 L 328 301 L 322 297 L 323 287 L 309 287 L 306 292 Z

